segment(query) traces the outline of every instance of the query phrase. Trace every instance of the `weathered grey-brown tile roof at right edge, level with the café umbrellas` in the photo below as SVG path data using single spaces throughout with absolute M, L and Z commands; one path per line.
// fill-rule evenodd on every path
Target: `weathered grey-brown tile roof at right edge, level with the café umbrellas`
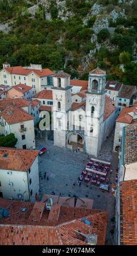
M 137 162 L 137 124 L 125 127 L 124 163 Z

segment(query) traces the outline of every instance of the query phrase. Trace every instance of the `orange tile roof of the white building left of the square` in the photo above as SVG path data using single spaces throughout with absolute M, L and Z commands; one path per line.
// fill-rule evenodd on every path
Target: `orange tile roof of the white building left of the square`
M 0 147 L 0 169 L 26 172 L 36 159 L 38 152 L 38 150 Z

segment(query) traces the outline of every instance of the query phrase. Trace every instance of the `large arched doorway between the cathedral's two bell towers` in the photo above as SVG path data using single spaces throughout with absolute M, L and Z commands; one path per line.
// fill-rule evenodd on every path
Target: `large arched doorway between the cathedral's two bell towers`
M 69 132 L 66 136 L 66 148 L 83 152 L 84 138 L 79 132 Z

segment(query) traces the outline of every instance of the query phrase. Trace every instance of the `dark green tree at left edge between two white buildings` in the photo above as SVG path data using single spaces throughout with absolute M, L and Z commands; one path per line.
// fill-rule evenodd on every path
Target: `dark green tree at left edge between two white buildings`
M 14 133 L 10 133 L 6 136 L 0 136 L 0 147 L 15 148 L 16 143 L 17 138 L 15 137 Z

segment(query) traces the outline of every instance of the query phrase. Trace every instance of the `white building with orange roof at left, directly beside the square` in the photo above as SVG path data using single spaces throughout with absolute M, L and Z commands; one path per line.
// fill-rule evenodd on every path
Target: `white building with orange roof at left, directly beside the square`
M 0 147 L 0 197 L 35 202 L 39 189 L 38 150 Z

